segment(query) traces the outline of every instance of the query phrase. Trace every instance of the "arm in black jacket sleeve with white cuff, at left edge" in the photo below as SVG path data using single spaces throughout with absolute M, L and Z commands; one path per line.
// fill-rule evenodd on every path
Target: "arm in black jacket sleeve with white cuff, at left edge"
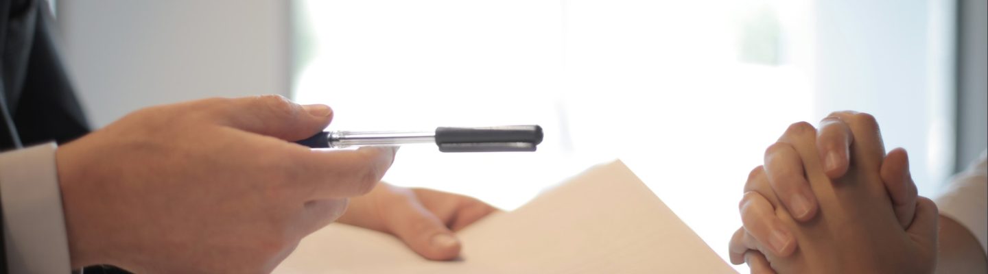
M 89 130 L 58 61 L 46 1 L 16 4 L 0 2 L 0 43 L 4 45 L 0 147 L 8 150 L 19 148 L 17 143 L 78 138 Z M 54 155 L 53 144 L 0 154 L 4 229 L 0 273 L 68 272 Z

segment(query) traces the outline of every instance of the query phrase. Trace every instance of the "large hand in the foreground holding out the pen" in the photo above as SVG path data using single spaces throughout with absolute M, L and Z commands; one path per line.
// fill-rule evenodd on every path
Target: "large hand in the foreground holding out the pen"
M 271 272 L 371 191 L 393 149 L 314 151 L 332 110 L 278 96 L 154 106 L 56 151 L 72 267 Z

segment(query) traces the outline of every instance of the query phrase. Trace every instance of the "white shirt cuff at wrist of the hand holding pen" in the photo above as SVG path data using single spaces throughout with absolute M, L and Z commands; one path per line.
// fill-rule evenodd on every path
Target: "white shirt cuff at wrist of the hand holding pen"
M 68 236 L 54 143 L 0 154 L 0 201 L 9 273 L 69 273 Z

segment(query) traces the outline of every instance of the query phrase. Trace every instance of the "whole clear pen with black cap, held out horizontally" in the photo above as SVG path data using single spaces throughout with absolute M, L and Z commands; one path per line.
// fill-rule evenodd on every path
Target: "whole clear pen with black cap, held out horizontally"
M 532 152 L 542 142 L 542 127 L 437 127 L 435 131 L 323 131 L 295 143 L 310 148 L 396 146 L 436 143 L 441 152 Z

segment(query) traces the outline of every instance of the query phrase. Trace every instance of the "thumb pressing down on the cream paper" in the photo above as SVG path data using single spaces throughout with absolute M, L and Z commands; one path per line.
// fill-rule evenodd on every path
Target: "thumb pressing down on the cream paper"
M 384 209 L 388 232 L 427 259 L 450 260 L 459 256 L 461 245 L 453 232 L 415 199 L 410 194 Z

